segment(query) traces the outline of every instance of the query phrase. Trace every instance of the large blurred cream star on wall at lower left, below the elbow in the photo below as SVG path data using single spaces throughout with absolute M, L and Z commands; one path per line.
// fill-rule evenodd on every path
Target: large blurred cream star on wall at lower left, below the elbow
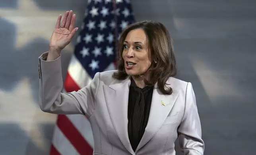
M 37 99 L 34 99 L 31 81 L 22 79 L 10 92 L 0 89 L 0 98 L 0 123 L 18 125 L 36 147 L 47 149 L 41 125 L 54 125 L 56 115 L 45 113 L 39 108 Z

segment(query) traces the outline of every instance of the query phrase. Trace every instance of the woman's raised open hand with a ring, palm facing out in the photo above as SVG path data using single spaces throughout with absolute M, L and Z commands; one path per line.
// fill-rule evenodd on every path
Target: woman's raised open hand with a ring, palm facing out
M 61 51 L 68 45 L 78 28 L 74 28 L 76 15 L 73 11 L 66 11 L 61 22 L 62 15 L 59 15 L 54 31 L 50 38 L 50 48 Z

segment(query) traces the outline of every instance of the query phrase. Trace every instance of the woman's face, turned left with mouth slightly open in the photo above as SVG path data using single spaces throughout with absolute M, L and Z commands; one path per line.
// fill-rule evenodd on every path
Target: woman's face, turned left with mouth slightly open
M 147 36 L 142 29 L 131 30 L 123 43 L 122 57 L 126 74 L 144 74 L 151 65 Z

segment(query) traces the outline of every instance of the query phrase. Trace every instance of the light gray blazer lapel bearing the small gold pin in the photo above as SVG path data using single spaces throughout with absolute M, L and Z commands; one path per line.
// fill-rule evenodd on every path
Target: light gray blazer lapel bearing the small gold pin
M 149 142 L 163 125 L 177 97 L 178 92 L 175 90 L 173 90 L 172 95 L 163 95 L 158 89 L 154 88 L 147 127 L 145 128 L 144 135 L 142 136 L 136 152 Z

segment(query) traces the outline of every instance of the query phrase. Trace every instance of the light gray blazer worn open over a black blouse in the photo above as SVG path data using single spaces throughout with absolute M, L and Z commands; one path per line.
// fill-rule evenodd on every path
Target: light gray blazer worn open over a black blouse
M 41 110 L 55 114 L 86 115 L 94 139 L 93 155 L 175 155 L 179 137 L 185 155 L 203 155 L 204 141 L 191 83 L 170 77 L 172 95 L 153 90 L 145 133 L 136 151 L 128 138 L 128 94 L 130 78 L 112 78 L 116 70 L 96 73 L 78 92 L 61 93 L 61 56 L 53 61 L 39 57 L 39 103 Z

